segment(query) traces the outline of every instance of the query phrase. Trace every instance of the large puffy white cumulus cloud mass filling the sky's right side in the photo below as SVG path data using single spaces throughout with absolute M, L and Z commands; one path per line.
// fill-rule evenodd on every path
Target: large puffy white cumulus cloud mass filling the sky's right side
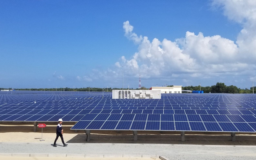
M 246 75 L 255 71 L 256 60 L 256 1 L 212 0 L 212 6 L 220 8 L 230 20 L 243 29 L 236 42 L 221 35 L 204 36 L 203 33 L 187 31 L 175 41 L 137 35 L 129 21 L 123 23 L 124 35 L 136 45 L 138 51 L 130 57 L 121 56 L 114 67 L 106 71 L 94 70 L 88 78 L 105 80 L 122 74 L 144 78 L 172 77 L 189 83 L 189 77 L 225 77 Z M 255 76 L 255 73 L 253 74 Z

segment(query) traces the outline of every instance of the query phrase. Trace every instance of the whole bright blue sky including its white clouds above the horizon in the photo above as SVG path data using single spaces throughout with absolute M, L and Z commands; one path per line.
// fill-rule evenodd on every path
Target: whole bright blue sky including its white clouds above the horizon
M 121 87 L 124 66 L 125 87 L 138 87 L 141 74 L 146 87 L 170 79 L 171 85 L 249 88 L 255 50 L 243 39 L 255 40 L 247 25 L 255 17 L 241 14 L 240 6 L 255 9 L 234 0 L 0 1 L 0 87 Z M 154 44 L 164 56 L 153 52 Z

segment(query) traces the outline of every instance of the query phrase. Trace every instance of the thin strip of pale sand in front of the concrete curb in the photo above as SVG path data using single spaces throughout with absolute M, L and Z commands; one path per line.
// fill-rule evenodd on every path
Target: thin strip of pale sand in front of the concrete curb
M 152 158 L 77 158 L 77 157 L 10 157 L 10 156 L 0 156 L 1 160 L 153 160 Z M 158 158 L 159 159 L 159 158 Z

